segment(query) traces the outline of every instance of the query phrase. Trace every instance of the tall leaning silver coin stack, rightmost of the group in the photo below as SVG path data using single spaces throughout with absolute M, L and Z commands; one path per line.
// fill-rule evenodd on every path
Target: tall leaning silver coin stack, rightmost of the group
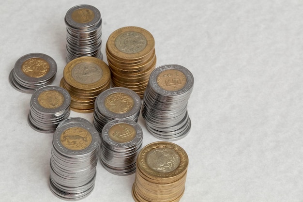
M 160 140 L 179 140 L 191 127 L 187 101 L 194 77 L 185 67 L 167 64 L 156 68 L 144 93 L 142 116 L 147 129 Z

